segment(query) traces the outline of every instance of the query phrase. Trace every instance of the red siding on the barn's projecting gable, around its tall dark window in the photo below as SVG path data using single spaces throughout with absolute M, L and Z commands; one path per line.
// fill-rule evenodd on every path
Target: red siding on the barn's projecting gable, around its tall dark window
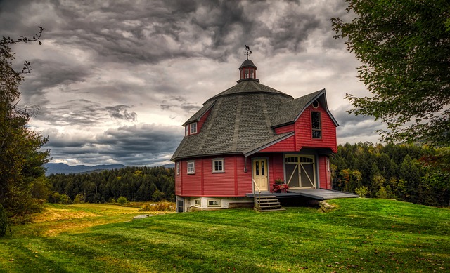
M 311 135 L 311 112 L 321 112 L 322 138 L 314 139 Z M 333 152 L 338 152 L 338 142 L 336 140 L 336 126 L 328 113 L 321 105 L 313 108 L 311 105 L 304 110 L 295 121 L 295 136 L 298 148 L 331 148 Z

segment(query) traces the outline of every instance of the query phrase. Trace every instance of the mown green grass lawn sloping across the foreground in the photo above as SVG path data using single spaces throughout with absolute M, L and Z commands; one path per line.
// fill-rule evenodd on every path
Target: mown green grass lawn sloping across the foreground
M 12 237 L 0 239 L 0 272 L 449 272 L 449 209 L 383 199 L 329 203 L 338 208 L 134 221 L 137 208 L 53 205 L 74 218 L 42 216 L 13 227 Z

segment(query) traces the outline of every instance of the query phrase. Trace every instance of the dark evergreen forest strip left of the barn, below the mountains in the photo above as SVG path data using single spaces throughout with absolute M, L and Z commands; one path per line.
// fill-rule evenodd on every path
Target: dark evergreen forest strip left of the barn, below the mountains
M 175 201 L 175 173 L 165 167 L 126 167 L 94 173 L 52 174 L 48 177 L 57 194 L 70 200 L 105 203 L 124 197 L 129 201 Z M 80 200 L 81 197 L 83 200 Z M 51 202 L 60 199 L 51 197 Z

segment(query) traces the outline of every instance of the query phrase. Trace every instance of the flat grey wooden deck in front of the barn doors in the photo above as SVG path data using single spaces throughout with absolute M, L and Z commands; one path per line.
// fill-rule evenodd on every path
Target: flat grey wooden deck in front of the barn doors
M 246 194 L 247 197 L 255 197 L 257 194 Z M 359 197 L 358 194 L 352 194 L 349 192 L 340 192 L 333 189 L 288 189 L 288 192 L 267 192 L 261 193 L 264 195 L 274 195 L 278 199 L 284 198 L 299 198 L 306 197 L 307 199 L 314 200 L 328 200 L 328 199 L 338 199 L 338 198 L 356 198 Z

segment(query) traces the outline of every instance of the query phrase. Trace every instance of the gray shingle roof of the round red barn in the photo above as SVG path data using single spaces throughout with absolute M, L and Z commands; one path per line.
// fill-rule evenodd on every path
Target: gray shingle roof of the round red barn
M 200 132 L 181 141 L 172 161 L 219 154 L 246 154 L 276 142 L 289 133 L 276 135 L 274 127 L 294 122 L 305 107 L 322 95 L 324 97 L 325 90 L 294 100 L 292 96 L 257 81 L 241 81 L 207 100 L 186 121 L 184 126 L 199 121 L 210 110 Z

